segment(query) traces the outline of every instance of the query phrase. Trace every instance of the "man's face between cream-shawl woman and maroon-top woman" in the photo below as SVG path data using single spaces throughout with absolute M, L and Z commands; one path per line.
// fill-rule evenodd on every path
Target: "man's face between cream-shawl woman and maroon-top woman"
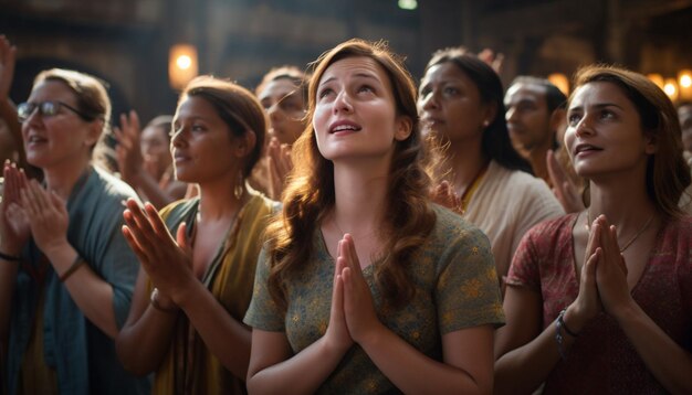
M 526 157 L 536 148 L 551 147 L 554 137 L 545 87 L 516 83 L 507 89 L 504 105 L 514 149 Z

